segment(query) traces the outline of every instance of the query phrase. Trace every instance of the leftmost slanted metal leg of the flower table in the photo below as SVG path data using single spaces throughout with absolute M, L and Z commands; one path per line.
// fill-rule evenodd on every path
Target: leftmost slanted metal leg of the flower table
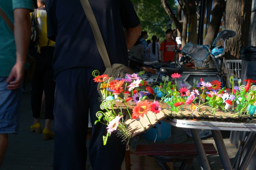
M 204 146 L 197 129 L 190 129 L 195 141 L 196 149 L 204 170 L 210 170 L 210 164 L 204 151 Z

